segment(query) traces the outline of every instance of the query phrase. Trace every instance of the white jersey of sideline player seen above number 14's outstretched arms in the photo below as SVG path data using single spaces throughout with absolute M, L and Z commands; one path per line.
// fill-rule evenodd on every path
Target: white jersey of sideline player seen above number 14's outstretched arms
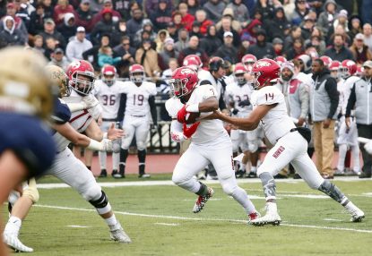
M 226 92 L 225 95 L 228 97 L 229 102 L 234 101 L 235 102 L 235 107 L 238 109 L 238 116 L 245 116 L 252 111 L 252 105 L 246 106 L 246 107 L 239 107 L 238 104 L 239 102 L 248 99 L 249 101 L 251 100 L 251 96 L 253 93 L 252 87 L 246 83 L 243 86 L 239 86 L 238 82 L 232 82 L 229 83 L 226 86 Z

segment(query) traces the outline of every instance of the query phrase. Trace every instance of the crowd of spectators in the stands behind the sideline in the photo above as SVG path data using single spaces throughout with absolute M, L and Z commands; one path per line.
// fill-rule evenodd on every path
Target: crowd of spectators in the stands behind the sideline
M 160 79 L 169 60 L 212 55 L 372 57 L 370 1 L 335 0 L 1 0 L 0 47 L 21 45 L 65 68 L 75 59 L 127 77 L 143 64 Z

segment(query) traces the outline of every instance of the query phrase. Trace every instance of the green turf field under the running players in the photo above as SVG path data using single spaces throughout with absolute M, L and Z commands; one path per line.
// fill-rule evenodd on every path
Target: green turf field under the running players
M 167 178 L 154 176 L 151 181 Z M 139 181 L 134 176 L 128 180 Z M 190 192 L 169 184 L 125 182 L 125 186 L 104 190 L 133 243 L 110 241 L 104 221 L 70 188 L 40 189 L 40 201 L 23 222 L 20 238 L 34 248 L 31 255 L 35 256 L 371 255 L 372 181 L 334 183 L 365 211 L 362 223 L 350 223 L 340 205 L 301 181 L 277 183 L 281 226 L 248 226 L 243 209 L 222 192 L 219 183 L 211 184 L 213 198 L 201 213 L 194 214 L 196 196 Z M 241 186 L 262 210 L 261 183 Z

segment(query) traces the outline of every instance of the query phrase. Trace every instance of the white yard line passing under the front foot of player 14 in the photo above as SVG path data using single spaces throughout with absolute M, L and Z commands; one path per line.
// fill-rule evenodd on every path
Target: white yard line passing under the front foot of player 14
M 62 206 L 52 206 L 52 205 L 41 205 L 36 204 L 35 207 L 48 208 L 48 209 L 68 209 L 68 210 L 77 210 L 77 211 L 94 211 L 95 209 L 80 209 L 72 207 L 62 207 Z M 125 211 L 115 211 L 115 214 L 127 215 L 127 216 L 137 216 L 144 218 L 166 218 L 166 219 L 180 219 L 180 220 L 195 220 L 195 221 L 216 221 L 216 222 L 235 222 L 235 223 L 247 223 L 247 220 L 239 219 L 227 219 L 227 218 L 187 218 L 179 216 L 166 216 L 166 215 L 153 215 L 153 214 L 143 214 L 143 213 L 131 213 Z M 312 229 L 326 229 L 326 230 L 339 230 L 339 231 L 350 231 L 357 233 L 368 233 L 372 234 L 372 230 L 368 229 L 356 229 L 356 228 L 346 228 L 346 227 L 333 227 L 333 226 L 313 226 L 313 225 L 298 225 L 298 224 L 288 224 L 281 223 L 281 226 L 292 226 L 292 227 L 302 227 L 302 228 L 312 228 Z

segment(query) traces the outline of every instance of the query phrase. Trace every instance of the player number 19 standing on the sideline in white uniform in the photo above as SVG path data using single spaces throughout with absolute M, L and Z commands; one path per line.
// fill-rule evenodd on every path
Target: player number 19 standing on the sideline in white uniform
M 150 121 L 152 118 L 152 129 L 157 129 L 158 116 L 155 105 L 156 85 L 150 81 L 144 81 L 144 69 L 140 64 L 129 67 L 129 78 L 125 81 L 121 92 L 124 94 L 120 102 L 119 115 L 124 114 L 123 128 L 125 138 L 122 139 L 120 149 L 119 173 L 114 174 L 116 178 L 125 177 L 125 163 L 128 157 L 128 149 L 135 135 L 137 143 L 137 156 L 139 161 L 139 177 L 149 178 L 146 174 L 146 141 L 150 132 Z M 151 116 L 150 116 L 151 115 Z

